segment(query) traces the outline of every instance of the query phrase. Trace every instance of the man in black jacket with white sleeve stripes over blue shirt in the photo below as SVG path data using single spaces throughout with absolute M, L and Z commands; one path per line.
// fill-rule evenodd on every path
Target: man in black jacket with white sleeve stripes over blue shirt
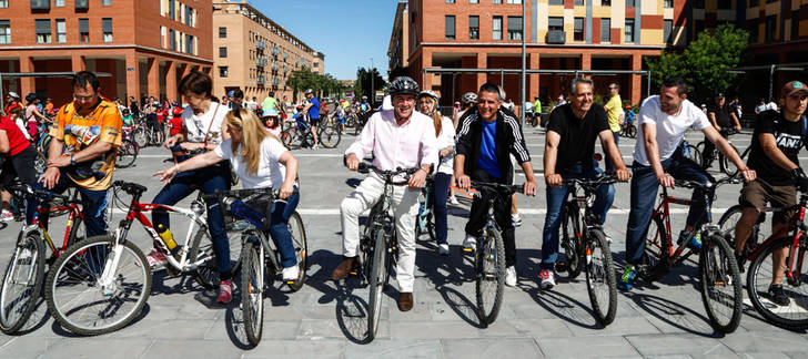
M 527 181 L 524 194 L 536 195 L 536 177 L 533 174 L 531 154 L 527 152 L 525 139 L 519 127 L 518 119 L 501 109 L 503 99 L 495 84 L 486 83 L 477 93 L 477 107 L 461 123 L 455 136 L 455 177 L 461 188 L 471 187 L 471 181 L 496 182 L 509 185 L 512 183 L 512 164 L 509 155 L 513 154 L 522 165 Z M 466 239 L 463 246 L 466 249 L 476 247 L 476 238 L 486 222 L 489 193 L 481 193 L 475 197 L 466 224 Z M 516 285 L 516 244 L 514 243 L 514 226 L 511 220 L 511 196 L 502 196 L 495 201 L 494 212 L 496 222 L 502 229 L 505 242 L 505 284 Z

